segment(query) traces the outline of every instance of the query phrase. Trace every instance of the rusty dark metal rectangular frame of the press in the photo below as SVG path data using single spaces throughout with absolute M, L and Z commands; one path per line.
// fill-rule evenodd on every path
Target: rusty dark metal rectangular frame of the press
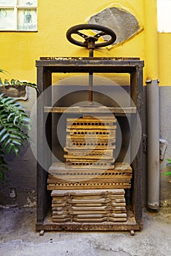
M 52 74 L 60 72 L 96 72 L 96 73 L 129 73 L 130 95 L 137 107 L 137 112 L 142 121 L 142 69 L 144 62 L 132 58 L 80 58 L 80 57 L 45 57 L 36 61 L 37 86 L 40 94 L 52 83 Z M 45 121 L 45 111 L 50 99 L 43 105 L 37 106 L 39 122 L 37 124 L 38 157 L 42 157 L 45 150 L 42 141 L 42 125 Z M 50 112 L 50 111 L 49 111 Z M 119 111 L 118 111 L 119 112 Z M 113 110 L 115 113 L 115 110 Z M 47 114 L 47 113 L 46 113 Z M 132 114 L 135 115 L 134 111 Z M 47 141 L 51 145 L 51 113 L 47 118 Z M 136 135 L 135 135 L 136 136 Z M 51 165 L 51 157 L 42 159 L 48 167 Z M 128 209 L 128 221 L 124 223 L 53 223 L 48 211 L 50 208 L 50 192 L 47 191 L 47 172 L 37 163 L 37 230 L 141 230 L 142 229 L 142 142 L 137 156 L 132 163 L 134 178 L 132 181 L 131 208 Z

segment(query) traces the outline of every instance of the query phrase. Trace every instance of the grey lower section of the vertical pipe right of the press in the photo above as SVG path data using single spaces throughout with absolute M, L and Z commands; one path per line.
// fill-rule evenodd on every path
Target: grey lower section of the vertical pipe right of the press
M 147 83 L 148 120 L 148 208 L 159 208 L 159 86 Z

